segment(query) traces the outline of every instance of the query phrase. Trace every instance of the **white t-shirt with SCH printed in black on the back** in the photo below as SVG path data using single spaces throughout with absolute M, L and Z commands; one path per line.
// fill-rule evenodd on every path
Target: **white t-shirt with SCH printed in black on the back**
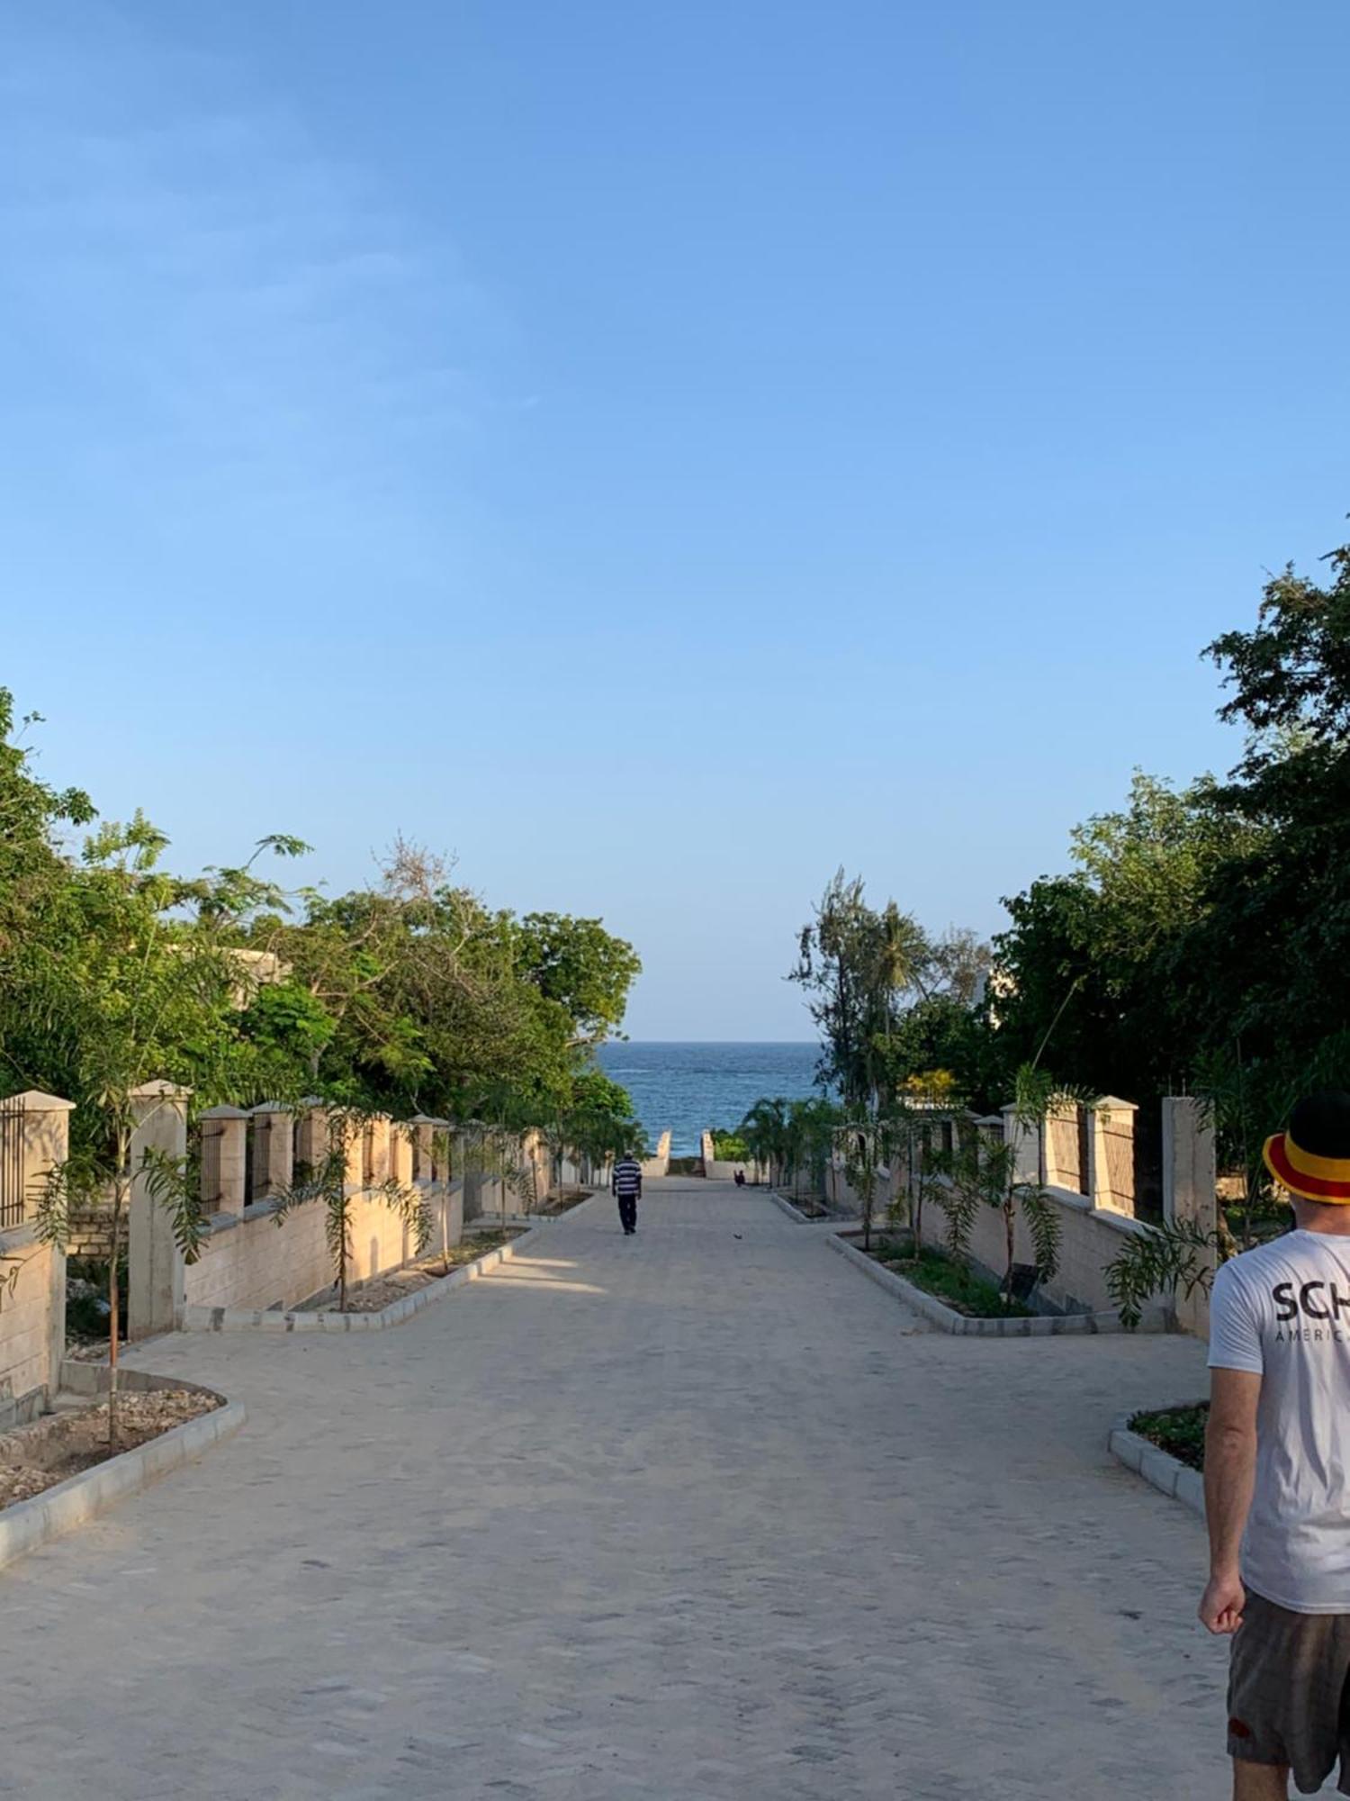
M 1262 1376 L 1242 1581 L 1350 1614 L 1350 1237 L 1287 1232 L 1213 1282 L 1210 1367 Z

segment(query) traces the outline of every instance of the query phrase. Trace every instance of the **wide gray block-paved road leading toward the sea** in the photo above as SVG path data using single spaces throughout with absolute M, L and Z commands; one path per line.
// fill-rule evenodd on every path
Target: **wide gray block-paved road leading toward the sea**
M 409 1326 L 171 1338 L 245 1432 L 0 1576 L 23 1801 L 1219 1801 L 1177 1338 L 931 1335 L 754 1192 Z

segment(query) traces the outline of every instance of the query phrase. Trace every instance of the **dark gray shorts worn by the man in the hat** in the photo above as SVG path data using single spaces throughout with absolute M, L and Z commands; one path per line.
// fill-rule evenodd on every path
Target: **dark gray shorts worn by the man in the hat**
M 1291 1614 L 1247 1588 L 1228 1666 L 1228 1754 L 1287 1763 L 1314 1796 L 1341 1760 L 1350 1796 L 1350 1614 Z

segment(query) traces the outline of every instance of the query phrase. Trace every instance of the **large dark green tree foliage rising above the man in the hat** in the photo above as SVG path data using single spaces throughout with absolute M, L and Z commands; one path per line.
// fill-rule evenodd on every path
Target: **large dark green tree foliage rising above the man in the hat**
M 1100 1091 L 1208 1095 L 1256 1210 L 1260 1142 L 1298 1093 L 1350 1079 L 1350 548 L 1327 566 L 1274 576 L 1255 625 L 1208 647 L 1220 717 L 1247 731 L 1229 778 L 1138 774 L 997 942 L 1004 1066 L 1049 1046 Z

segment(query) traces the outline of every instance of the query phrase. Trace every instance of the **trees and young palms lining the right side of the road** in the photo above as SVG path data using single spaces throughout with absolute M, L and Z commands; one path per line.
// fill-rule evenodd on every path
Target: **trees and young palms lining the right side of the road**
M 1053 1272 L 1051 1210 L 970 1122 L 1015 1099 L 1021 1120 L 1123 1093 L 1156 1108 L 1199 1095 L 1215 1124 L 1226 1205 L 1211 1230 L 1159 1226 L 1112 1266 L 1127 1324 L 1159 1290 L 1193 1291 L 1210 1264 L 1283 1230 L 1260 1147 L 1300 1091 L 1350 1081 L 1350 546 L 1312 580 L 1285 567 L 1255 623 L 1206 647 L 1246 733 L 1228 776 L 1136 773 L 1123 805 L 1075 827 L 1069 868 L 1004 899 L 990 944 L 932 933 L 839 870 L 803 926 L 788 978 L 821 1034 L 812 1102 L 765 1097 L 742 1122 L 774 1180 L 821 1190 L 832 1156 L 871 1232 L 873 1176 L 923 1151 L 916 1239 L 947 1216 L 959 1261 L 985 1203 L 1026 1219 Z M 814 1109 L 806 1113 L 803 1109 Z M 934 1154 L 934 1145 L 938 1151 Z M 925 1219 L 927 1212 L 927 1219 Z

